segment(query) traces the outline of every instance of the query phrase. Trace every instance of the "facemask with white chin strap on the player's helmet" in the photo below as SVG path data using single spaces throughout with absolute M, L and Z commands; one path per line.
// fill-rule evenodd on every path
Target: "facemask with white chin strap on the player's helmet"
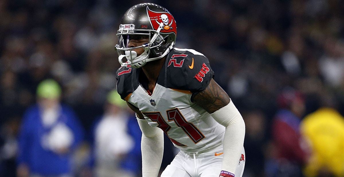
M 157 30 L 152 30 L 135 29 L 134 24 L 121 24 L 117 33 L 118 44 L 116 45 L 116 49 L 118 52 L 118 61 L 121 66 L 130 65 L 133 68 L 140 68 L 148 61 L 153 61 L 164 57 L 173 47 L 173 44 L 171 45 L 171 47 L 168 47 L 168 50 L 160 52 L 158 53 L 158 55 L 157 52 L 151 52 L 151 50 L 155 51 L 156 49 L 159 49 L 159 47 L 162 46 L 162 44 L 165 42 L 164 37 L 159 33 L 163 26 L 163 23 L 161 23 Z M 141 46 L 129 47 L 129 41 L 132 37 L 135 37 L 134 35 L 147 36 L 147 38 L 149 39 L 149 43 L 143 44 Z M 133 49 L 141 47 L 144 49 L 144 52 L 141 55 L 137 56 L 136 51 L 133 51 Z M 126 58 L 127 61 L 123 61 L 124 58 Z

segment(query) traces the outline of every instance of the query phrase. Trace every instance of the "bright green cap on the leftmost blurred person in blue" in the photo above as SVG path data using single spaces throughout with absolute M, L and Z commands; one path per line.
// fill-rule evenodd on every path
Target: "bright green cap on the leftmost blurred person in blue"
M 37 86 L 37 96 L 40 98 L 55 99 L 60 95 L 61 87 L 52 79 L 46 79 Z

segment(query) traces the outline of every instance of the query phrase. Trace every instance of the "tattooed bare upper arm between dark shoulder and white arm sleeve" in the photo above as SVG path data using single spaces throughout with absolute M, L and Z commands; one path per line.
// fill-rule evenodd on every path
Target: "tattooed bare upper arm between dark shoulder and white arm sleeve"
M 208 113 L 214 113 L 216 110 L 226 106 L 230 102 L 230 98 L 212 79 L 203 91 L 193 96 L 193 101 Z

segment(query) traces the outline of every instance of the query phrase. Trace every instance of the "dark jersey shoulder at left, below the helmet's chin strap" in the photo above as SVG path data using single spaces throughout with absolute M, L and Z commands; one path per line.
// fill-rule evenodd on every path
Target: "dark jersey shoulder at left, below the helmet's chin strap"
M 137 69 L 130 66 L 120 67 L 116 71 L 116 80 L 117 92 L 123 100 L 139 86 Z

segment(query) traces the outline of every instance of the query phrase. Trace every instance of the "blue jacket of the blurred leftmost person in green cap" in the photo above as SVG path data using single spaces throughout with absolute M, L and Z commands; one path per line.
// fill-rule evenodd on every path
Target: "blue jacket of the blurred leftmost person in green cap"
M 64 123 L 72 132 L 74 141 L 66 154 L 57 154 L 42 146 L 42 138 L 56 125 L 44 127 L 41 110 L 34 105 L 26 110 L 19 134 L 18 164 L 25 164 L 31 174 L 61 175 L 72 172 L 72 153 L 83 140 L 84 132 L 74 111 L 66 105 L 61 106 L 61 114 L 56 123 Z

